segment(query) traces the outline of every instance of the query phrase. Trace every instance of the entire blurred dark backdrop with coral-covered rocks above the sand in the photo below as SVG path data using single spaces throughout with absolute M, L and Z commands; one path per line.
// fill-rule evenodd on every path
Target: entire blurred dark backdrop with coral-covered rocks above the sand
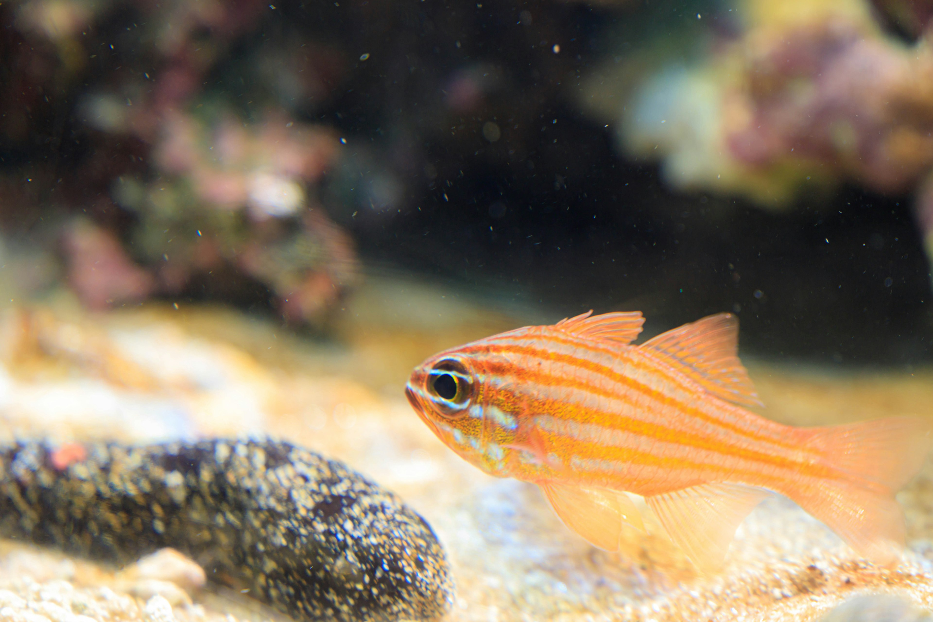
M 774 355 L 927 360 L 931 16 L 7 2 L 11 292 L 221 300 L 326 331 L 389 265 L 656 330 L 731 310 Z

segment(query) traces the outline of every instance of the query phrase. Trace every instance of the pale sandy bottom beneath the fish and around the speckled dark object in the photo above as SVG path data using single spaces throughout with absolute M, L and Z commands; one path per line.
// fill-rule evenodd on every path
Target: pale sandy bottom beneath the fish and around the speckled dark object
M 339 339 L 328 342 L 220 308 L 148 305 L 90 315 L 67 301 L 10 305 L 0 320 L 0 440 L 272 435 L 338 458 L 399 493 L 434 527 L 458 587 L 452 621 L 828 615 L 839 622 L 919 620 L 933 610 L 929 464 L 898 495 L 909 538 L 898 568 L 857 559 L 821 523 L 773 497 L 739 528 L 723 573 L 703 577 L 660 536 L 633 532 L 620 553 L 593 548 L 564 528 L 536 487 L 483 475 L 411 412 L 402 386 L 427 355 L 557 319 L 489 311 L 454 292 L 392 280 L 348 300 Z M 933 415 L 933 370 L 829 373 L 746 363 L 764 413 L 777 421 Z M 0 542 L 0 618 L 282 619 L 238 594 L 190 590 L 188 597 L 117 571 Z

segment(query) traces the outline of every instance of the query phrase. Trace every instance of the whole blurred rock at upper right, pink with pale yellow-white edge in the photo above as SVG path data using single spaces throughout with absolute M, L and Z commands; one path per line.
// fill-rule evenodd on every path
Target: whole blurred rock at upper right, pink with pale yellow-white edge
M 741 0 L 696 14 L 690 62 L 634 55 L 594 72 L 591 108 L 620 122 L 635 159 L 669 184 L 784 209 L 842 183 L 915 194 L 933 257 L 933 47 L 923 2 Z M 885 30 L 897 21 L 920 38 Z M 655 41 L 646 49 L 669 47 Z M 588 102 L 586 96 L 584 103 Z

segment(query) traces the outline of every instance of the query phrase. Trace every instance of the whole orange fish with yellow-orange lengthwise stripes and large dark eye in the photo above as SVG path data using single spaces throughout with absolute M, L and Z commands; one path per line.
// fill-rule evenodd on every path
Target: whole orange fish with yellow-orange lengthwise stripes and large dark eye
M 771 422 L 745 408 L 761 404 L 733 315 L 634 346 L 640 312 L 591 313 L 430 357 L 406 386 L 412 408 L 466 461 L 537 484 L 567 527 L 607 550 L 618 550 L 623 524 L 645 529 L 629 491 L 714 571 L 739 523 L 776 491 L 860 555 L 898 560 L 894 493 L 924 463 L 930 421 Z

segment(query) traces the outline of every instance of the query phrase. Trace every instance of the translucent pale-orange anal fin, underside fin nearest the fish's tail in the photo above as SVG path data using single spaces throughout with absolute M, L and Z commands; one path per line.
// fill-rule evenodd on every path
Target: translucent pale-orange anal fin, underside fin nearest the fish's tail
M 703 573 L 717 571 L 748 513 L 770 494 L 723 482 L 665 492 L 645 501 L 677 546 Z

